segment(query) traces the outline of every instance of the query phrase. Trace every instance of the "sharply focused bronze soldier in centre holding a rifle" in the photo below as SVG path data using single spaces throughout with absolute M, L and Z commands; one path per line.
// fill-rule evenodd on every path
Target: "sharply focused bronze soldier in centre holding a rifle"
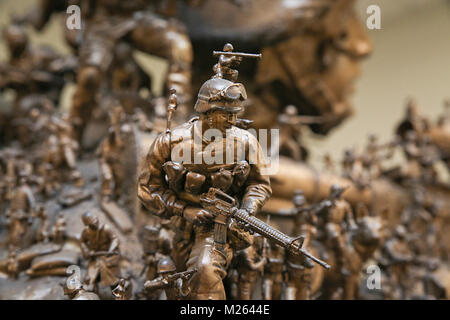
M 233 251 L 249 246 L 252 241 L 251 235 L 232 220 L 226 229 L 226 243 L 216 244 L 214 216 L 201 207 L 199 194 L 210 187 L 217 188 L 235 196 L 239 210 L 250 215 L 254 215 L 271 194 L 269 177 L 262 173 L 265 161 L 258 141 L 234 125 L 245 99 L 245 88 L 240 83 L 222 78 L 206 81 L 195 105 L 200 118 L 160 134 L 150 147 L 139 177 L 138 196 L 150 212 L 166 218 L 179 216 L 185 222 L 185 227 L 176 230 L 176 239 L 184 240 L 185 236 L 177 237 L 177 234 L 194 225 L 190 248 L 185 250 L 184 258 L 188 270 L 198 270 L 190 281 L 192 299 L 225 299 L 222 280 Z M 227 136 L 214 139 L 208 129 Z M 224 148 L 223 141 L 228 140 L 235 142 L 234 150 Z M 191 150 L 195 154 L 188 154 Z M 238 152 L 231 154 L 238 150 L 245 150 L 240 159 Z M 256 152 L 253 163 L 250 163 L 249 151 Z M 211 154 L 221 160 L 209 159 Z M 232 174 L 241 161 L 249 163 L 246 177 Z M 239 188 L 231 188 L 233 181 L 240 180 Z M 176 242 L 174 248 L 177 248 Z

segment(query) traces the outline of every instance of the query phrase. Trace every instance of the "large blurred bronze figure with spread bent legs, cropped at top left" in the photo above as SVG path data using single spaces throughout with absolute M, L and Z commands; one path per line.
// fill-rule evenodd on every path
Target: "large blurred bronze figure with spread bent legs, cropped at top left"
M 79 50 L 80 69 L 71 109 L 78 138 L 81 138 L 86 122 L 98 105 L 105 83 L 103 80 L 114 68 L 114 48 L 121 42 L 167 59 L 166 89 L 176 88 L 180 102 L 184 104 L 189 101 L 191 43 L 179 22 L 158 14 L 155 8 L 162 2 L 165 1 L 130 0 L 114 4 L 97 1 L 85 6 L 83 42 Z

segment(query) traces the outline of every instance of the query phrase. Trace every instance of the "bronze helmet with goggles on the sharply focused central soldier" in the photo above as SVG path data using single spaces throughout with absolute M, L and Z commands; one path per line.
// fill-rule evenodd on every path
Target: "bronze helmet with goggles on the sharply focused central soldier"
M 224 110 L 237 113 L 242 110 L 242 102 L 247 92 L 242 83 L 234 83 L 222 78 L 207 80 L 200 88 L 194 109 L 199 113 Z

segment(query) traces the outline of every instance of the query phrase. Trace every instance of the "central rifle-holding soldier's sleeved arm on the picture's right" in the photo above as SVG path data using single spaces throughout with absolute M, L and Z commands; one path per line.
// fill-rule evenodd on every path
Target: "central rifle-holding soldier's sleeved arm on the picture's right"
M 242 197 L 241 209 L 245 209 L 250 214 L 256 214 L 264 203 L 272 195 L 270 178 L 263 174 L 267 166 L 267 160 L 262 152 L 256 137 L 248 134 L 248 161 L 250 164 L 250 174 L 247 179 L 246 188 Z

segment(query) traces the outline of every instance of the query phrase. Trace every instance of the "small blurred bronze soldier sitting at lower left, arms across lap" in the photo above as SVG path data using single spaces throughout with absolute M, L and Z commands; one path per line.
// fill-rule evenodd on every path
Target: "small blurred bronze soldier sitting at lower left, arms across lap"
M 119 239 L 91 212 L 84 213 L 82 220 L 85 227 L 80 245 L 83 257 L 88 259 L 89 285 L 96 285 L 100 279 L 100 285 L 113 287 L 119 281 Z

